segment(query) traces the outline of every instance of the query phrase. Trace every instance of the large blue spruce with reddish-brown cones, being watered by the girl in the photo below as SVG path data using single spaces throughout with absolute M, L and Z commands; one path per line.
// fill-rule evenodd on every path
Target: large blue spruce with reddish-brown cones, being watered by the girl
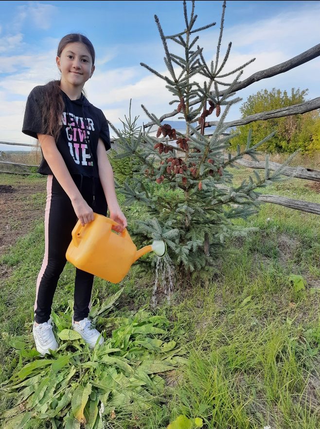
M 204 58 L 203 48 L 197 44 L 199 36 L 194 35 L 215 23 L 196 28 L 194 1 L 190 17 L 186 1 L 183 1 L 186 28 L 177 34 L 165 36 L 155 16 L 168 74 L 164 76 L 147 64 L 141 65 L 166 82 L 166 88 L 173 96 L 170 104 L 176 104 L 176 109 L 158 118 L 142 105 L 150 122 L 138 136 L 129 139 L 110 124 L 117 134 L 118 145 L 122 147 L 119 157 L 130 157 L 135 165 L 130 183 L 124 182 L 121 192 L 126 196 L 126 204 L 139 201 L 147 214 L 143 220 L 137 221 L 135 233 L 147 242 L 151 239 L 166 242 L 180 280 L 191 273 L 210 270 L 214 259 L 221 254 L 225 238 L 244 234 L 245 231 L 235 226 L 232 220 L 256 212 L 258 188 L 278 180 L 282 170 L 271 175 L 266 162 L 264 176 L 254 171 L 254 175 L 243 180 L 241 185 L 235 186 L 232 182 L 234 162 L 244 155 L 257 160 L 258 148 L 273 134 L 251 146 L 249 133 L 244 150 L 238 147 L 235 155 L 228 151 L 231 136 L 224 135 L 227 129 L 224 121 L 231 106 L 241 100 L 235 96 L 233 88 L 244 68 L 254 59 L 224 73 L 231 52 L 229 43 L 220 60 L 225 8 L 226 2 L 222 8 L 215 61 L 210 64 Z M 178 45 L 183 54 L 174 54 L 169 43 Z M 232 76 L 231 82 L 225 81 Z M 197 82 L 197 77 L 203 83 Z M 214 112 L 219 121 L 213 134 L 206 136 L 206 117 Z M 182 114 L 178 118 L 184 119 L 186 124 L 184 133 L 178 133 L 165 123 L 165 117 L 178 114 Z M 158 131 L 153 136 L 151 129 L 155 125 Z

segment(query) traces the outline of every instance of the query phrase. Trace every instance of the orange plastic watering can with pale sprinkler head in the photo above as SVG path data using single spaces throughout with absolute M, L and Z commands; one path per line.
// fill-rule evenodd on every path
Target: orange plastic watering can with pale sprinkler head
M 117 234 L 112 231 L 113 225 L 118 224 L 96 213 L 94 220 L 85 226 L 78 220 L 72 231 L 67 260 L 80 270 L 119 283 L 140 256 L 151 251 L 158 256 L 165 254 L 166 245 L 163 241 L 154 241 L 137 251 L 127 230 Z

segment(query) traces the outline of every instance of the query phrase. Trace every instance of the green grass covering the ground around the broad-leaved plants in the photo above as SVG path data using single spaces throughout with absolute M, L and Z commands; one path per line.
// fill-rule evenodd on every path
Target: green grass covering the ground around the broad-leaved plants
M 247 173 L 244 168 L 234 172 L 236 180 Z M 1 179 L 12 186 L 17 180 L 9 175 Z M 31 184 L 36 180 L 43 179 L 24 179 Z M 284 179 L 263 192 L 320 203 L 319 191 L 307 184 Z M 37 199 L 33 204 L 39 204 Z M 170 305 L 163 303 L 155 312 L 168 320 L 164 337 L 177 343 L 185 362 L 163 372 L 159 401 L 135 413 L 119 404 L 114 414 L 104 415 L 105 427 L 164 429 L 182 414 L 201 418 L 207 429 L 320 428 L 319 216 L 264 204 L 248 222 L 238 223 L 255 230 L 226 243 L 228 252 L 211 278 L 186 283 L 174 292 Z M 0 299 L 2 382 L 25 363 L 12 347 L 13 339 L 23 336 L 33 347 L 34 290 L 43 249 L 43 221 L 38 218 L 0 259 L 5 273 Z M 132 268 L 120 285 L 95 279 L 93 296 L 100 302 L 124 287 L 108 317 L 150 311 L 154 272 L 146 267 Z M 55 312 L 68 310 L 73 277 L 74 269 L 67 265 L 55 295 Z M 0 412 L 13 407 L 12 397 L 5 392 L 0 397 Z M 3 422 L 2 428 L 9 429 Z M 23 428 L 53 427 L 45 419 L 28 425 Z

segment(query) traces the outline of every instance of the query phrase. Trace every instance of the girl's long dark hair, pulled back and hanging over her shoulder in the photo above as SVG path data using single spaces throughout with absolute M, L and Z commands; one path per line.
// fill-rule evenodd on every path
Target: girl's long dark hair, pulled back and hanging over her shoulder
M 92 58 L 92 65 L 95 60 L 95 52 L 90 40 L 79 33 L 71 33 L 64 36 L 58 45 L 57 56 L 60 57 L 68 43 L 81 42 L 89 50 Z M 51 80 L 45 85 L 44 97 L 41 103 L 43 129 L 46 134 L 53 136 L 55 140 L 59 137 L 62 123 L 60 118 L 64 110 L 64 101 L 60 91 L 60 80 Z

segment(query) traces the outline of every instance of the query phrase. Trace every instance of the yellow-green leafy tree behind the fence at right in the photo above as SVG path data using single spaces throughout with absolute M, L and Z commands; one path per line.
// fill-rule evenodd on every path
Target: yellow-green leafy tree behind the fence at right
M 271 91 L 265 89 L 249 96 L 240 107 L 242 117 L 255 115 L 262 111 L 271 111 L 298 103 L 304 103 L 308 90 L 291 89 L 291 94 L 287 91 L 273 88 Z M 303 115 L 287 117 L 275 117 L 265 121 L 256 121 L 251 124 L 236 127 L 237 135 L 231 141 L 231 146 L 236 148 L 237 144 L 245 145 L 249 129 L 252 129 L 253 144 L 266 134 L 277 130 L 276 134 L 261 147 L 261 150 L 268 152 L 293 153 L 301 150 L 302 153 L 320 150 L 319 137 L 316 123 L 320 121 L 319 111 L 307 112 Z

